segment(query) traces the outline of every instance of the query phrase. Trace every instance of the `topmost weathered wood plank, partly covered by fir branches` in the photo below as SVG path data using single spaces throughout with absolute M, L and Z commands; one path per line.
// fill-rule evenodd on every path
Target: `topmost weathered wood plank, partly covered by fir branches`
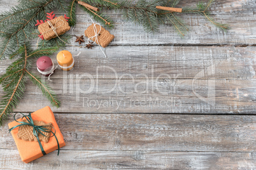
M 207 1 L 207 0 L 206 0 Z M 10 2 L 5 2 L 5 9 L 10 9 Z M 194 1 L 190 1 L 195 4 Z M 187 1 L 184 1 L 187 3 Z M 219 6 L 212 8 L 217 11 L 214 18 L 218 22 L 228 23 L 231 30 L 223 32 L 201 15 L 183 15 L 183 20 L 187 23 L 190 32 L 181 38 L 170 25 L 161 25 L 159 33 L 148 34 L 140 25 L 134 25 L 132 22 L 125 21 L 120 13 L 106 11 L 106 15 L 111 16 L 115 23 L 115 29 L 110 30 L 115 35 L 115 39 L 110 45 L 155 45 L 155 44 L 182 44 L 182 45 L 225 45 L 225 44 L 243 44 L 255 45 L 256 17 L 255 1 L 224 1 L 216 3 Z M 10 6 L 6 8 L 6 6 Z M 243 8 L 245 7 L 245 8 Z M 241 10 L 242 9 L 242 10 Z M 80 10 L 81 11 L 81 10 Z M 78 11 L 77 24 L 75 29 L 70 31 L 71 34 L 84 34 L 85 29 L 91 25 L 90 16 L 83 11 Z M 223 11 L 223 12 L 220 12 Z M 220 14 L 222 13 L 222 14 Z M 241 14 L 245 13 L 245 14 Z

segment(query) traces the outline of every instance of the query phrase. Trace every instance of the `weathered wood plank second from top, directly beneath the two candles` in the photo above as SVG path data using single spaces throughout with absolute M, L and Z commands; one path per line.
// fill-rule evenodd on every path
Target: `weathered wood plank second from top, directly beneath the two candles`
M 110 46 L 105 53 L 94 49 L 68 47 L 75 58 L 75 68 L 67 77 L 87 73 L 95 79 L 193 79 L 203 72 L 200 79 L 252 79 L 256 69 L 256 47 L 176 47 L 176 46 Z M 57 64 L 56 55 L 51 58 Z M 0 74 L 13 60 L 0 61 Z M 36 62 L 36 61 L 35 61 Z M 32 72 L 38 73 L 36 64 Z M 39 74 L 38 74 L 39 75 Z M 63 79 L 63 72 L 57 70 L 52 78 Z

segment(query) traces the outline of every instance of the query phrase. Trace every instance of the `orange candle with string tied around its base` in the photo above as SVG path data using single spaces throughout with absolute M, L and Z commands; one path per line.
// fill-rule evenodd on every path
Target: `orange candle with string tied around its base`
M 57 54 L 57 62 L 60 69 L 68 71 L 74 67 L 75 60 L 69 51 L 63 50 Z

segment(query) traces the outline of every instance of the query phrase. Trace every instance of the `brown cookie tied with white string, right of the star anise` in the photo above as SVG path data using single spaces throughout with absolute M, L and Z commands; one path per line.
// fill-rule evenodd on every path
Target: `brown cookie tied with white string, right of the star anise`
M 93 37 L 90 40 L 94 42 L 96 41 L 97 44 L 101 45 L 103 48 L 106 48 L 106 46 L 108 46 L 108 44 L 110 44 L 110 42 L 115 38 L 115 36 L 110 34 L 108 30 L 105 30 L 100 25 L 96 25 L 96 29 L 97 29 L 97 33 L 99 33 L 97 36 L 97 41 L 96 41 L 96 37 L 93 37 L 96 34 L 96 32 L 94 32 L 94 23 L 90 25 L 87 28 L 87 30 L 85 30 L 85 36 Z M 101 31 L 99 32 L 99 30 Z

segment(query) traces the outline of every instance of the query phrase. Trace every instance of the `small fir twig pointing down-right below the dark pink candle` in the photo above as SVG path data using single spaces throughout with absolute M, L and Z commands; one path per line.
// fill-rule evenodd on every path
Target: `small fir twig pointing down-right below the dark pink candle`
M 46 84 L 43 84 L 41 79 L 39 77 L 36 77 L 36 75 L 32 75 L 27 70 L 26 72 L 30 76 L 30 79 L 33 82 L 33 84 L 35 84 L 36 86 L 38 86 L 38 88 L 41 89 L 41 91 L 43 92 L 43 95 L 45 95 L 46 98 L 48 98 L 48 100 L 51 101 L 52 105 L 55 107 L 60 107 L 60 101 L 57 100 L 56 95 L 51 92 L 50 87 L 47 86 Z

